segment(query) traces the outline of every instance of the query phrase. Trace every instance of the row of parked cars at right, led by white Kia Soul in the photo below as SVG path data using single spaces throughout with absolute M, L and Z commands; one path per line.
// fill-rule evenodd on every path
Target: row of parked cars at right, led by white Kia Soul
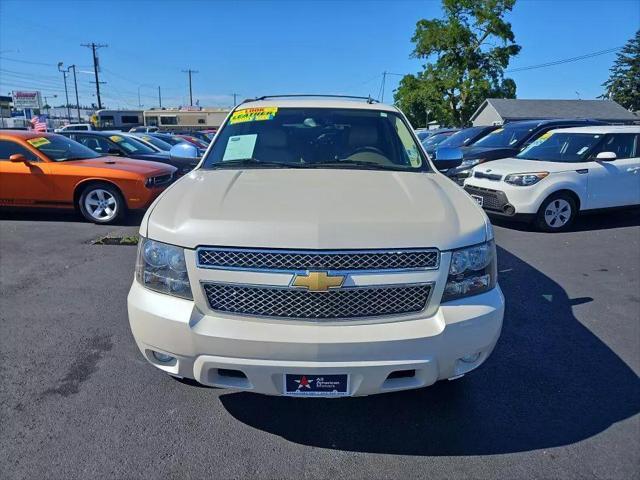
M 640 205 L 640 126 L 546 120 L 438 135 L 422 142 L 434 165 L 491 215 L 556 232 L 580 213 Z

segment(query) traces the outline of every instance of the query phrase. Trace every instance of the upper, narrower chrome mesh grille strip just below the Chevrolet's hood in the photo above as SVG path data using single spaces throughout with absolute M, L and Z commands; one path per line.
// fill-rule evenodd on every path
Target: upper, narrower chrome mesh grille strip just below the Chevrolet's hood
M 436 249 L 266 250 L 201 247 L 198 266 L 252 270 L 403 270 L 438 268 Z

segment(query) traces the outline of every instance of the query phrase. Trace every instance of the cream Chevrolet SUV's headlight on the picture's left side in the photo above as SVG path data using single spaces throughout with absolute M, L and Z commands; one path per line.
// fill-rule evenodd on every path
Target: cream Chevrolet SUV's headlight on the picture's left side
M 150 290 L 193 300 L 183 248 L 140 238 L 136 279 Z

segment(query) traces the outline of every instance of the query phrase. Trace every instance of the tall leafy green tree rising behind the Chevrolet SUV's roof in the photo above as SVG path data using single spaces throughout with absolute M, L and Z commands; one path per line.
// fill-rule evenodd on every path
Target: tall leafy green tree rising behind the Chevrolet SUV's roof
M 504 78 L 509 59 L 520 51 L 504 20 L 514 4 L 442 0 L 443 19 L 418 21 L 412 56 L 425 60 L 424 70 L 405 75 L 394 95 L 415 126 L 427 117 L 463 126 L 486 98 L 515 98 L 515 82 Z

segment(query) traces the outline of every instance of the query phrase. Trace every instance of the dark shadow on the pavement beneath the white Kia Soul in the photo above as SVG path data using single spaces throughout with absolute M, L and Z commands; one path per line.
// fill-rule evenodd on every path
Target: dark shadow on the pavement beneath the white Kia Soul
M 520 230 L 525 232 L 536 231 L 530 223 L 517 222 L 502 217 L 491 216 L 491 223 L 500 227 Z M 569 232 L 589 232 L 593 230 L 608 230 L 611 228 L 624 228 L 640 225 L 640 208 L 626 210 L 612 210 L 580 215 L 569 229 Z

